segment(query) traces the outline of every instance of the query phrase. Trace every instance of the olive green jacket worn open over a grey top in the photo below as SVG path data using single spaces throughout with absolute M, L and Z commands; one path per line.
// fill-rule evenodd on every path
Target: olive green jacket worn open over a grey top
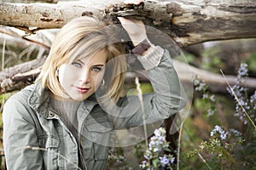
M 154 88 L 154 94 L 143 95 L 147 122 L 166 119 L 181 110 L 186 104 L 185 94 L 168 51 L 157 47 L 139 60 Z M 110 132 L 143 124 L 137 96 L 119 99 L 118 103 L 117 113 L 107 114 L 93 97 L 81 102 L 77 141 L 60 116 L 49 111 L 49 90 L 40 83 L 24 88 L 3 109 L 8 169 L 78 169 L 79 160 L 84 169 L 106 169 Z

